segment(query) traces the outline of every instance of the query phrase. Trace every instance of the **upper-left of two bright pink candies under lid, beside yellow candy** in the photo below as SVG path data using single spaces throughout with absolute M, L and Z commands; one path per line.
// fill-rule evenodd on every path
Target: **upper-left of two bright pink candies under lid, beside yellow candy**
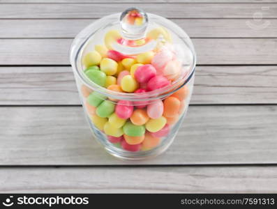
M 135 70 L 135 79 L 140 83 L 147 83 L 155 75 L 156 69 L 153 65 L 142 65 Z

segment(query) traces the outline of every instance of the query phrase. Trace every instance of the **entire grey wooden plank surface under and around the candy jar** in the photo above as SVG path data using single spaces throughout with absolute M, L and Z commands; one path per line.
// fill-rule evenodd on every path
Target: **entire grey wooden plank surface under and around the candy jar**
M 130 6 L 197 52 L 177 138 L 140 162 L 93 140 L 68 59 L 84 26 Z M 0 81 L 0 192 L 277 192 L 275 0 L 0 0 Z

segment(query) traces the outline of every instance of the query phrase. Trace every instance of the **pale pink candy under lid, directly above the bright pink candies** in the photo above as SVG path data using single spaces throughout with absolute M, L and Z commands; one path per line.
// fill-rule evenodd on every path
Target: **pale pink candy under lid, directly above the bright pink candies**
M 162 49 L 158 52 L 151 61 L 151 64 L 156 68 L 157 74 L 163 74 L 165 65 L 173 59 L 173 53 L 167 49 Z

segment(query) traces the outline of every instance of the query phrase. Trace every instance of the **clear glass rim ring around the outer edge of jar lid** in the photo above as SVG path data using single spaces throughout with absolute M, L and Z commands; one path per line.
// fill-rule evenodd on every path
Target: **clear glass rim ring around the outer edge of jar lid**
M 166 26 L 171 25 L 174 27 L 174 29 L 178 29 L 179 33 L 183 35 L 184 37 L 188 38 L 190 41 L 190 45 L 188 46 L 188 49 L 190 49 L 191 54 L 193 55 L 193 64 L 190 68 L 188 73 L 184 73 L 184 75 L 181 75 L 179 79 L 174 81 L 172 84 L 165 86 L 163 88 L 158 88 L 154 91 L 147 91 L 145 93 L 121 93 L 116 91 L 111 91 L 107 88 L 104 88 L 102 86 L 98 86 L 91 80 L 89 80 L 84 73 L 82 72 L 82 69 L 80 69 L 80 66 L 77 65 L 77 63 L 80 61 L 80 56 L 82 55 L 82 49 L 84 45 L 86 45 L 87 41 L 93 36 L 94 33 L 96 33 L 98 30 L 103 29 L 103 25 L 108 26 L 107 23 L 109 20 L 116 20 L 117 17 L 120 17 L 120 13 L 115 13 L 112 15 L 108 15 L 106 17 L 102 17 L 99 20 L 96 20 L 95 22 L 89 24 L 86 28 L 84 28 L 80 33 L 77 34 L 75 39 L 73 40 L 71 46 L 70 46 L 70 63 L 73 68 L 74 75 L 77 75 L 79 79 L 82 80 L 83 84 L 88 86 L 89 88 L 93 89 L 93 91 L 96 91 L 97 93 L 100 93 L 101 95 L 105 95 L 108 98 L 116 99 L 116 100 L 133 100 L 133 101 L 146 101 L 146 100 L 157 100 L 160 98 L 165 98 L 168 95 L 171 95 L 175 91 L 178 91 L 180 88 L 182 88 L 184 85 L 186 85 L 191 77 L 193 77 L 195 73 L 195 65 L 196 65 L 196 53 L 195 49 L 193 47 L 193 43 L 191 42 L 189 36 L 186 34 L 186 32 L 181 29 L 177 24 L 174 22 L 171 22 L 170 20 L 167 20 L 165 17 L 161 17 L 159 15 L 154 15 L 151 13 L 147 13 L 149 16 L 149 19 L 160 19 L 163 21 Z M 117 18 L 119 20 L 119 18 Z M 108 23 L 109 24 L 109 23 Z M 91 27 L 94 27 L 94 29 L 91 29 Z M 177 34 L 178 36 L 180 34 Z M 181 37 L 179 37 L 181 38 Z M 184 41 L 184 38 L 181 38 Z M 185 42 L 186 43 L 186 42 Z

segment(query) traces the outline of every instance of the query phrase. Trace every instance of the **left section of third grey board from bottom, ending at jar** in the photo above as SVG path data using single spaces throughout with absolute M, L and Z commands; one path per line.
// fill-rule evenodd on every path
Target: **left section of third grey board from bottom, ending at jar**
M 70 67 L 0 68 L 0 104 L 80 104 Z

